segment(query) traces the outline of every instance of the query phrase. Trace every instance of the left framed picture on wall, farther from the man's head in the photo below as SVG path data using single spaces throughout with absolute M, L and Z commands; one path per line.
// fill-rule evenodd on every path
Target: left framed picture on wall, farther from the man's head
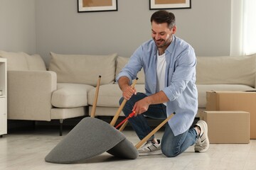
M 117 11 L 117 0 L 78 0 L 78 12 Z

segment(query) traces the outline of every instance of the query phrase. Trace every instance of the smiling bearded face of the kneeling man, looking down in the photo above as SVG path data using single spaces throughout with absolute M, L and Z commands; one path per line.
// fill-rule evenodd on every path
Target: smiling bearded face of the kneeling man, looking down
M 152 21 L 151 30 L 151 36 L 156 43 L 156 46 L 161 48 L 170 45 L 172 35 L 176 31 L 176 26 L 170 29 L 167 23 L 155 23 Z

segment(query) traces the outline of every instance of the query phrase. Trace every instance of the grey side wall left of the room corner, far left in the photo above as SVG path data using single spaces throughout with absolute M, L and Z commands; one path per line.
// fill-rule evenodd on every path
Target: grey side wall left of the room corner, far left
M 0 50 L 36 52 L 35 0 L 0 0 Z

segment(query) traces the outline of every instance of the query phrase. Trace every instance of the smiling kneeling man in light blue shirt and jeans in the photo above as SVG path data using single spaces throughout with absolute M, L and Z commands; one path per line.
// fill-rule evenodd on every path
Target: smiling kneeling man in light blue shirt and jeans
M 176 113 L 164 130 L 162 140 L 152 136 L 138 151 L 139 155 L 165 154 L 176 157 L 191 145 L 195 152 L 209 147 L 206 122 L 199 120 L 191 128 L 198 108 L 196 89 L 196 55 L 193 47 L 177 38 L 175 16 L 168 11 L 156 11 L 151 16 L 152 40 L 144 42 L 117 76 L 126 116 L 140 140 L 151 132 L 145 116 L 167 118 Z M 146 94 L 137 93 L 130 84 L 140 69 L 144 69 Z

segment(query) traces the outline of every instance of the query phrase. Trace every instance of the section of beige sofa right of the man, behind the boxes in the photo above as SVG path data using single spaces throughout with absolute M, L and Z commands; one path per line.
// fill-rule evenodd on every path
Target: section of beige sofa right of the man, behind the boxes
M 206 109 L 206 91 L 255 91 L 256 55 L 197 57 L 198 113 Z

